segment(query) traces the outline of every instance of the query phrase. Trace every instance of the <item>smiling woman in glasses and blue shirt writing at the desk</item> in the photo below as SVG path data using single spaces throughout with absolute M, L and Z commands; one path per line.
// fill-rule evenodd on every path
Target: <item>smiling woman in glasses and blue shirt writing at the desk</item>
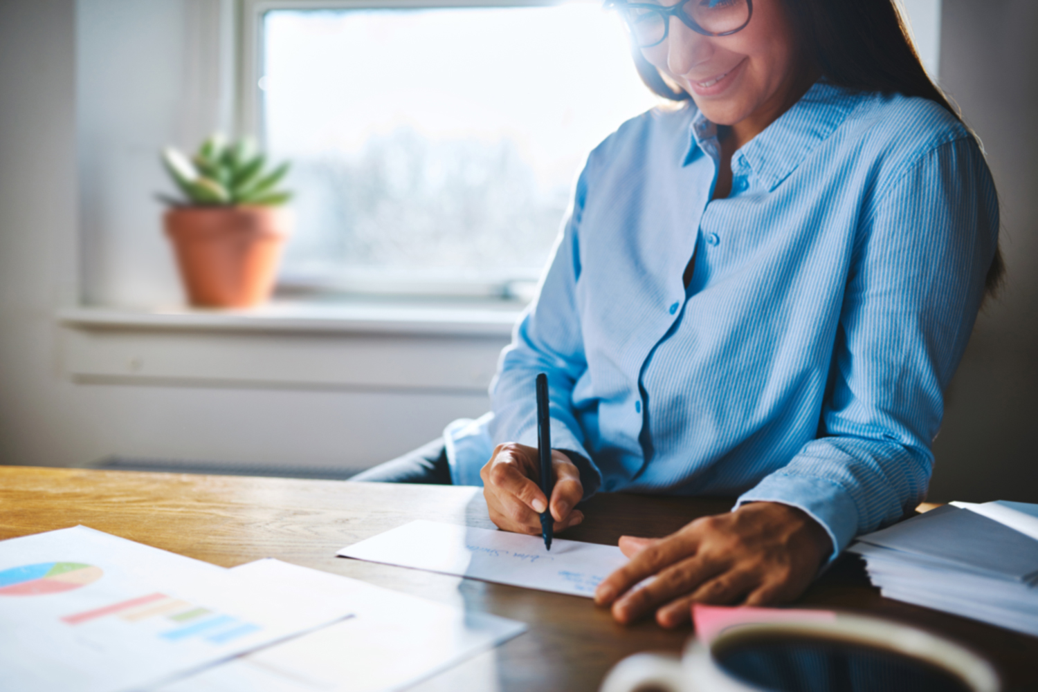
M 631 560 L 596 602 L 675 627 L 693 601 L 796 598 L 925 496 L 943 393 L 1002 272 L 998 199 L 891 0 L 616 6 L 643 78 L 686 103 L 592 153 L 493 414 L 358 479 L 479 468 L 494 523 L 528 533 L 546 504 L 556 531 L 580 523 L 599 489 L 738 495 L 621 539 Z

